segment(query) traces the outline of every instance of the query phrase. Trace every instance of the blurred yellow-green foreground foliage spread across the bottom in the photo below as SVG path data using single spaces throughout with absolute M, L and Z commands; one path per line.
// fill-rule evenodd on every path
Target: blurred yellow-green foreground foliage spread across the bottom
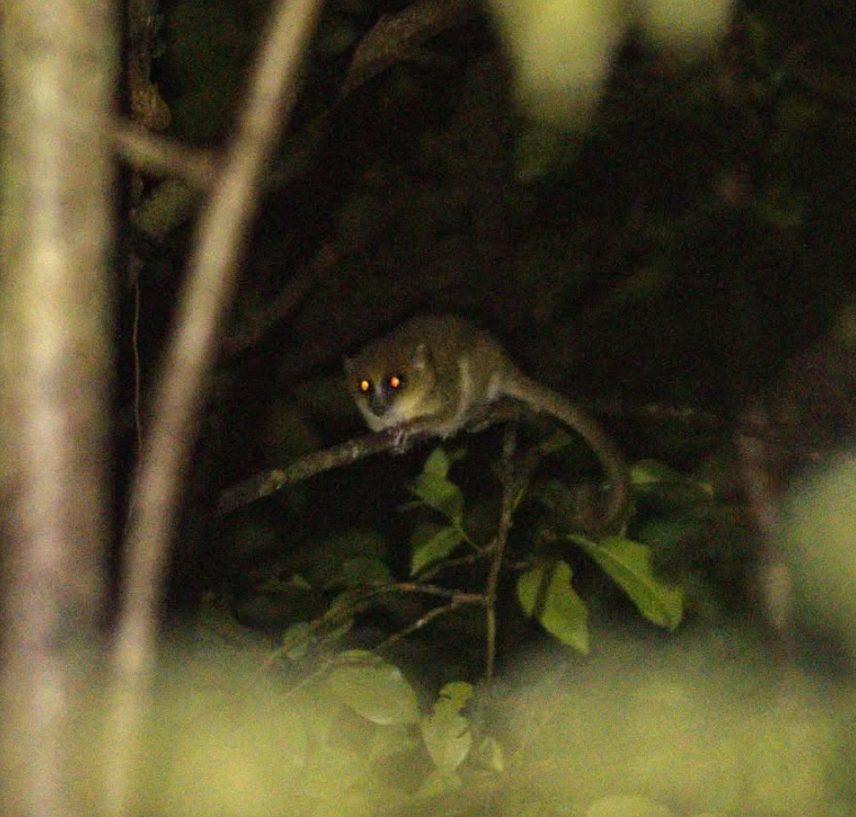
M 242 689 L 234 656 L 204 655 L 208 669 L 182 660 L 192 682 L 159 705 L 153 749 L 175 760 L 156 766 L 143 801 L 155 813 L 166 803 L 201 814 L 197 802 L 212 808 L 223 790 L 265 815 L 292 798 L 300 813 L 331 816 L 488 806 L 669 815 L 675 802 L 693 814 L 746 803 L 759 814 L 822 814 L 829 764 L 843 757 L 830 706 L 838 692 L 794 677 L 777 711 L 780 667 L 731 631 L 676 640 L 665 653 L 609 639 L 591 672 L 545 655 L 493 688 L 456 681 L 435 694 L 365 650 L 330 654 L 309 675 L 312 661 L 294 663 L 299 683 L 286 689 L 255 670 Z

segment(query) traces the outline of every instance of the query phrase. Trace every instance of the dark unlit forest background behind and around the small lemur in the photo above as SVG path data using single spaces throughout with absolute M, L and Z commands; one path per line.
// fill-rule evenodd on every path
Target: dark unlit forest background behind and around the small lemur
M 162 4 L 153 78 L 170 136 L 212 148 L 227 139 L 265 5 Z M 491 329 L 533 377 L 605 408 L 629 460 L 693 474 L 719 461 L 752 396 L 827 342 L 851 298 L 849 4 L 741 3 L 723 41 L 692 65 L 631 36 L 591 124 L 547 134 L 549 150 L 515 111 L 509 62 L 478 10 L 346 89 L 356 46 L 404 8 L 325 7 L 223 339 L 174 560 L 179 608 L 204 589 L 238 610 L 256 604 L 259 583 L 323 561 L 354 529 L 379 536 L 402 568 L 410 523 L 396 508 L 425 449 L 296 486 L 230 520 L 214 521 L 212 508 L 235 482 L 362 431 L 342 357 L 411 314 L 454 311 Z M 524 181 L 533 151 L 543 172 Z M 155 187 L 142 179 L 135 195 L 144 201 Z M 130 234 L 143 261 L 145 401 L 190 228 Z M 269 305 L 301 279 L 300 297 L 271 318 Z M 123 311 L 126 418 L 130 295 Z M 654 419 L 652 405 L 693 419 Z M 130 471 L 133 433 L 120 428 Z M 457 478 L 477 492 L 498 440 L 467 444 L 468 462 L 485 464 Z M 740 501 L 736 482 L 723 477 L 723 490 Z M 737 527 L 736 537 L 719 523 L 691 537 L 693 570 L 704 563 L 718 609 L 752 564 L 751 548 L 734 545 L 751 522 Z M 289 620 L 275 614 L 274 630 Z

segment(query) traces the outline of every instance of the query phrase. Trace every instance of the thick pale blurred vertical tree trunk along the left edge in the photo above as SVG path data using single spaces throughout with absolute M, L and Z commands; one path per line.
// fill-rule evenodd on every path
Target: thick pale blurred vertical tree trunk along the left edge
M 116 26 L 109 0 L 3 0 L 0 18 L 0 806 L 63 817 L 109 528 Z

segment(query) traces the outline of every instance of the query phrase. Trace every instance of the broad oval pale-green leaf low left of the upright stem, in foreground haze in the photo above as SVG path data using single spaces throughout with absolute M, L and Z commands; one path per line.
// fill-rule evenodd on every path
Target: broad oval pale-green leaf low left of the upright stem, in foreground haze
M 342 704 L 373 724 L 391 726 L 419 720 L 416 694 L 391 664 L 338 666 L 326 680 L 326 687 Z

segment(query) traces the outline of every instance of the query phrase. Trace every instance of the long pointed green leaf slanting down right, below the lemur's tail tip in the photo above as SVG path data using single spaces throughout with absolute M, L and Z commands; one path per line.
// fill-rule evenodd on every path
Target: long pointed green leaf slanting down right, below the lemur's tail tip
M 654 575 L 651 548 L 620 537 L 599 543 L 576 536 L 569 539 L 612 577 L 648 621 L 669 630 L 678 627 L 683 617 L 683 589 L 670 587 Z

